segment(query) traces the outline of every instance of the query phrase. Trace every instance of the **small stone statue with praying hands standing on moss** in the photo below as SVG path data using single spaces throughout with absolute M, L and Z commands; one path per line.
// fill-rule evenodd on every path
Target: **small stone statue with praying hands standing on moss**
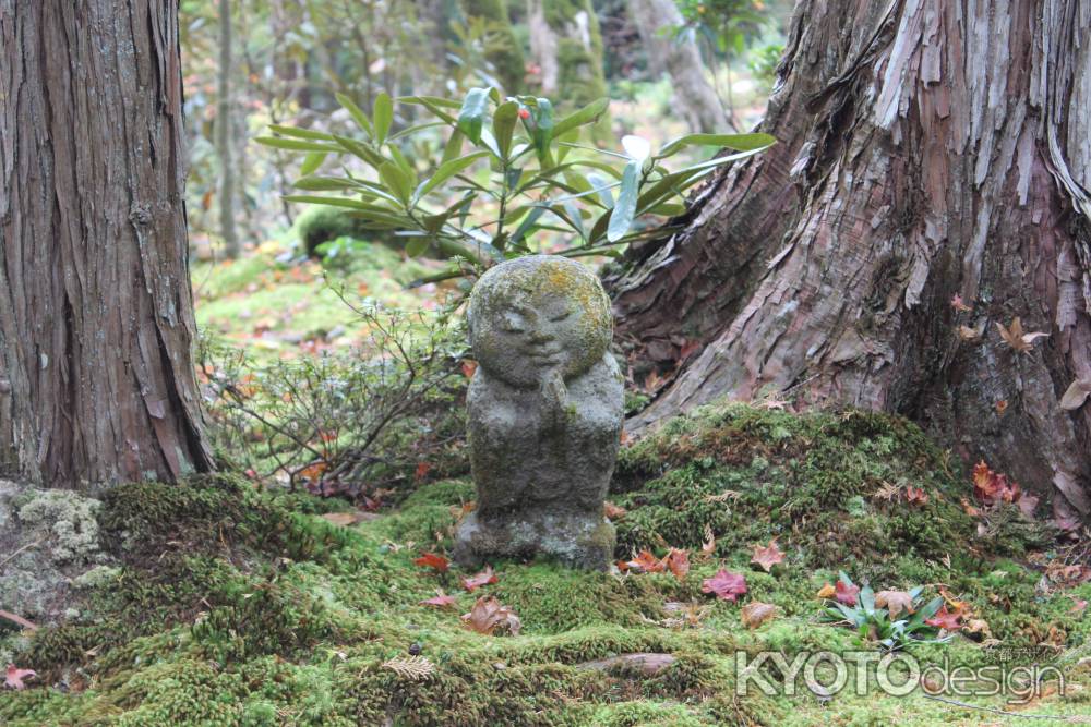
M 469 440 L 477 509 L 455 558 L 541 554 L 604 569 L 614 531 L 602 500 L 618 455 L 623 386 L 607 349 L 610 301 L 565 257 L 502 263 L 470 294 Z

